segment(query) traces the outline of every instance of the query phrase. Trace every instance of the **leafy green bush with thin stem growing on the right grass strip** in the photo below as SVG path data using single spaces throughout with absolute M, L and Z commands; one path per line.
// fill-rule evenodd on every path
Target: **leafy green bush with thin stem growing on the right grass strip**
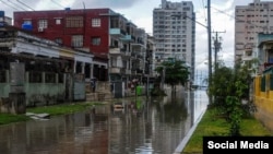
M 242 116 L 254 111 L 250 98 L 252 83 L 251 74 L 257 60 L 245 63 L 237 63 L 235 68 L 227 68 L 218 63 L 212 74 L 212 82 L 209 87 L 209 95 L 213 96 L 211 106 L 216 107 L 224 114 L 230 123 L 230 135 L 239 135 L 240 121 Z M 242 103 L 246 100 L 247 103 Z

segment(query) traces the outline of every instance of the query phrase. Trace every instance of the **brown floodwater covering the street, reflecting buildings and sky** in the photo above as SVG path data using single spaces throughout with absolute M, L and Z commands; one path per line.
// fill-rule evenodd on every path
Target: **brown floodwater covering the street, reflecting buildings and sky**
M 194 91 L 109 104 L 0 126 L 0 154 L 171 154 L 205 110 L 207 97 Z

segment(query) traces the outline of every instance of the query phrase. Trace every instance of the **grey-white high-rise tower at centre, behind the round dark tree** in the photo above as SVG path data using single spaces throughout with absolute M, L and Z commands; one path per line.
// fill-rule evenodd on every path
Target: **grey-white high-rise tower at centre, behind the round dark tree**
M 162 5 L 153 10 L 153 36 L 155 59 L 183 60 L 194 76 L 195 61 L 195 13 L 191 1 L 170 2 L 162 0 Z

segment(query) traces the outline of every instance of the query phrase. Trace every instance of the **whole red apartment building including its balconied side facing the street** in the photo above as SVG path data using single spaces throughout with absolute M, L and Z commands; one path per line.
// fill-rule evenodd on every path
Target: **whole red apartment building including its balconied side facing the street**
M 117 91 L 145 73 L 147 34 L 111 9 L 17 11 L 14 26 L 92 52 L 92 75 L 116 84 Z

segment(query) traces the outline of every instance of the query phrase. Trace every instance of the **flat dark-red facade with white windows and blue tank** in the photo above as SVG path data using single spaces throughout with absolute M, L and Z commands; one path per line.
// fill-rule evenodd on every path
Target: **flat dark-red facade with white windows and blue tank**
M 107 81 L 110 9 L 14 12 L 14 26 L 56 43 L 83 49 L 94 57 L 93 75 Z

